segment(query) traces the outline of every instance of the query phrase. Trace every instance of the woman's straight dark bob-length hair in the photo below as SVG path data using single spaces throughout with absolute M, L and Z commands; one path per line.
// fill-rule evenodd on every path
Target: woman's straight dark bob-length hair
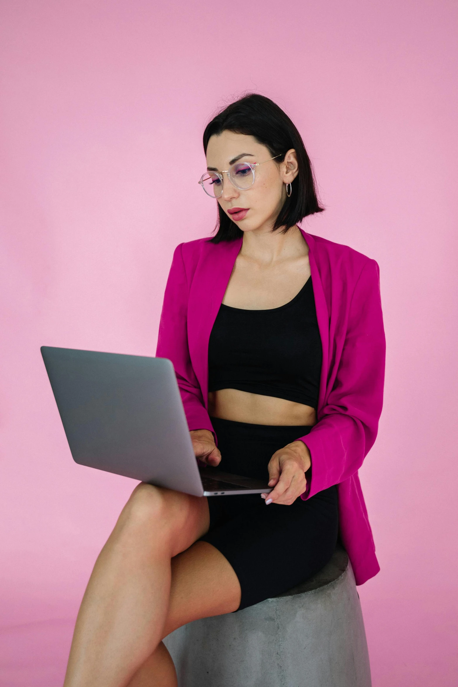
M 218 136 L 223 131 L 253 136 L 257 142 L 266 146 L 272 157 L 280 156 L 277 162 L 284 160 L 290 148 L 296 151 L 299 172 L 293 181 L 291 196 L 286 198 L 275 220 L 273 232 L 281 227 L 282 233 L 287 232 L 304 217 L 323 211 L 324 208 L 319 205 L 317 199 L 312 165 L 301 135 L 288 115 L 273 100 L 264 95 L 249 93 L 222 110 L 205 127 L 205 155 L 210 137 Z M 218 231 L 210 239 L 212 243 L 233 241 L 243 236 L 242 230 L 229 219 L 219 203 L 216 229 Z

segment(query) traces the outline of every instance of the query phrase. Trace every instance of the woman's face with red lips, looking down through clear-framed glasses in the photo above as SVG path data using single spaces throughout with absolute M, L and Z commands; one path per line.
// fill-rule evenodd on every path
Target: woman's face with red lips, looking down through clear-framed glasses
M 285 151 L 286 152 L 286 151 Z M 211 136 L 207 146 L 207 170 L 221 172 L 235 162 L 264 163 L 255 168 L 255 183 L 236 188 L 223 174 L 222 194 L 218 203 L 242 232 L 270 231 L 286 199 L 286 183 L 297 176 L 294 150 L 288 150 L 282 163 L 272 157 L 266 146 L 253 136 L 223 131 Z

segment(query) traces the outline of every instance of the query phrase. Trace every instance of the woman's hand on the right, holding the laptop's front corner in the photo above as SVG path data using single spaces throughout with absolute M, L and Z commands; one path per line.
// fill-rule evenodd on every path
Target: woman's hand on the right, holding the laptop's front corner
M 306 491 L 306 472 L 312 464 L 310 451 L 303 441 L 293 441 L 275 451 L 268 462 L 268 486 L 275 486 L 268 494 L 261 494 L 266 504 L 290 506 Z

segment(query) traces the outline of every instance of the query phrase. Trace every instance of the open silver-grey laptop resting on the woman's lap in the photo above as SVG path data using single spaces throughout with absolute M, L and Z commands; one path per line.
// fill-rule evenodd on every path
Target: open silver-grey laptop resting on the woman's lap
M 54 346 L 41 354 L 75 462 L 195 496 L 272 491 L 267 475 L 198 468 L 170 360 Z

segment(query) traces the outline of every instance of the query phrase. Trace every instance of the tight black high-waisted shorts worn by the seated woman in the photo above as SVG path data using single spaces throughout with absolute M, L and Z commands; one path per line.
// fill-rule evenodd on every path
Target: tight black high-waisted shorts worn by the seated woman
M 250 425 L 211 418 L 221 451 L 220 469 L 268 477 L 273 453 L 311 427 Z M 291 506 L 269 504 L 259 494 L 209 497 L 210 527 L 201 541 L 222 553 L 235 570 L 238 610 L 295 587 L 328 563 L 339 532 L 337 487 Z

